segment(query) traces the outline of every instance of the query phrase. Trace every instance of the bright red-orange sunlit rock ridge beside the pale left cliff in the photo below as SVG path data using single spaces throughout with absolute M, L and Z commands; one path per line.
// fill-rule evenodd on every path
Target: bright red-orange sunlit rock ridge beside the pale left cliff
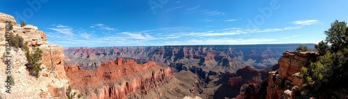
M 65 71 L 72 89 L 78 89 L 87 98 L 127 98 L 137 91 L 146 95 L 173 78 L 170 68 L 156 66 L 155 62 L 136 64 L 120 57 L 97 69 L 86 71 L 65 65 Z

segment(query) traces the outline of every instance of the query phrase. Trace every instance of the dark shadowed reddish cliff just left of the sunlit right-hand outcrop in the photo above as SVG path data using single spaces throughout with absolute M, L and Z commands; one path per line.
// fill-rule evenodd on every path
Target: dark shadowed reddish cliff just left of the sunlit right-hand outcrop
M 274 71 L 278 67 L 278 64 L 276 64 L 267 69 L 260 70 L 252 66 L 246 66 L 243 69 L 239 69 L 236 73 L 226 73 L 219 80 L 219 82 L 223 82 L 223 85 L 215 91 L 214 98 L 255 97 L 254 95 L 258 95 L 255 89 L 259 87 L 259 84 L 263 80 L 268 78 L 269 71 Z M 242 96 L 239 94 L 242 94 Z

